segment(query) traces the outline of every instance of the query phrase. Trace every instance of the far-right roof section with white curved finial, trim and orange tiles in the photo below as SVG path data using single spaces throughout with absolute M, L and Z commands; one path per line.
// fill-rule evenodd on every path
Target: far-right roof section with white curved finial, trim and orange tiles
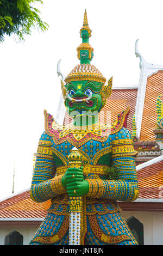
M 156 127 L 156 99 L 163 92 L 163 65 L 148 63 L 137 49 L 140 58 L 140 79 L 135 106 L 136 137 L 140 141 L 154 141 Z

